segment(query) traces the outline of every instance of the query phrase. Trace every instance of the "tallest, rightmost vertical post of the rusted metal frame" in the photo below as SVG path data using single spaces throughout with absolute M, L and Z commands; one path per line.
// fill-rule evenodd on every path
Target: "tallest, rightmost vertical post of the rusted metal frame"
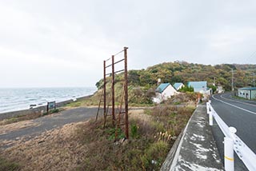
M 126 123 L 126 138 L 129 138 L 129 121 L 128 121 L 128 72 L 127 72 L 127 49 L 128 47 L 124 47 L 124 58 L 125 58 L 125 123 Z

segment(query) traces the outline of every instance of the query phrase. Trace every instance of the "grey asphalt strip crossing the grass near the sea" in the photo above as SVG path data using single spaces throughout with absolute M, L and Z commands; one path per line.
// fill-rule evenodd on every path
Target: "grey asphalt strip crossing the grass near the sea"
M 31 137 L 35 137 L 46 130 L 54 129 L 72 122 L 85 121 L 91 117 L 95 118 L 97 109 L 98 108 L 80 107 L 76 109 L 67 109 L 61 113 L 53 113 L 46 117 L 38 117 L 32 120 L 35 124 L 34 126 L 14 130 L 6 134 L 0 134 L 0 141 L 15 141 L 20 137 L 27 137 L 27 139 L 30 139 Z M 6 146 L 3 148 L 6 148 Z

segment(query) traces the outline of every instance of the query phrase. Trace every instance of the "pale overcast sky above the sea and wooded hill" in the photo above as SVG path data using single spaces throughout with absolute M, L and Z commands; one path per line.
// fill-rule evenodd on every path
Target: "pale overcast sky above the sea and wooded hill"
M 94 86 L 124 46 L 129 70 L 255 64 L 256 1 L 0 0 L 0 87 Z

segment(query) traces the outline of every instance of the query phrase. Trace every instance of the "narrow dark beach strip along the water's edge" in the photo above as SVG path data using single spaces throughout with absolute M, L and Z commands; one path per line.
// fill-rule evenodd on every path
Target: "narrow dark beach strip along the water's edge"
M 91 97 L 92 95 L 93 94 L 83 96 L 83 97 L 78 97 L 76 99 L 77 99 L 77 101 L 81 101 L 83 99 Z M 66 101 L 59 101 L 58 103 L 56 103 L 56 107 L 57 108 L 62 107 L 63 105 L 66 105 L 66 104 L 69 104 L 72 102 L 74 102 L 72 99 L 66 100 Z M 12 112 L 0 113 L 0 121 L 2 121 L 4 119 L 11 118 L 11 117 L 18 117 L 18 116 L 22 116 L 22 115 L 41 113 L 42 110 L 46 111 L 46 105 L 40 105 L 38 107 L 35 107 L 34 109 L 21 109 L 21 110 L 12 111 Z

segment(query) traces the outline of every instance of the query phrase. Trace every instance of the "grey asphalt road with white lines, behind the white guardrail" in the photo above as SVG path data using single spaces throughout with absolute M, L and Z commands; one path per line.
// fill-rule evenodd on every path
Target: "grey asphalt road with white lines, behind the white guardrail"
M 211 105 L 226 125 L 235 127 L 238 137 L 256 153 L 256 101 L 235 99 L 231 97 L 231 93 L 216 94 L 211 97 L 211 101 Z M 224 162 L 224 135 L 215 121 L 212 130 L 218 151 Z M 247 170 L 236 154 L 234 169 Z

